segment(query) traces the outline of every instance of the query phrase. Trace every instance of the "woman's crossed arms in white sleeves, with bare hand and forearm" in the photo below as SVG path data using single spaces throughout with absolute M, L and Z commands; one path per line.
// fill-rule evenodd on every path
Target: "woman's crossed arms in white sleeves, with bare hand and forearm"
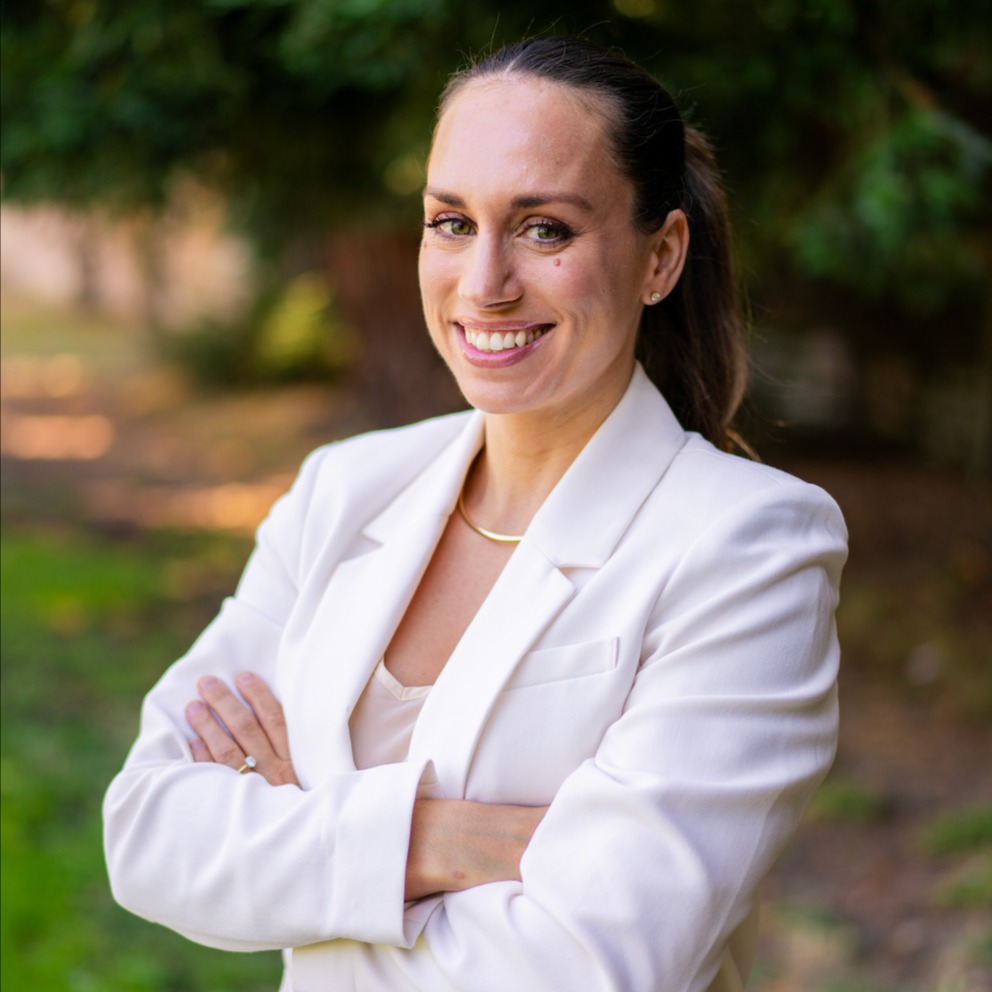
M 790 487 L 714 521 L 666 590 L 624 714 L 547 816 L 415 802 L 414 766 L 299 789 L 275 667 L 254 684 L 234 673 L 275 656 L 302 569 L 273 605 L 283 587 L 254 567 L 146 700 L 105 806 L 118 898 L 212 946 L 301 948 L 294 967 L 324 987 L 354 968 L 476 992 L 660 975 L 698 992 L 832 755 L 842 525 L 828 510 Z M 283 567 L 271 543 L 256 559 L 269 577 Z M 190 750 L 194 682 L 206 705 L 187 711 Z M 257 770 L 238 782 L 246 755 Z M 403 895 L 430 893 L 447 895 L 408 921 Z

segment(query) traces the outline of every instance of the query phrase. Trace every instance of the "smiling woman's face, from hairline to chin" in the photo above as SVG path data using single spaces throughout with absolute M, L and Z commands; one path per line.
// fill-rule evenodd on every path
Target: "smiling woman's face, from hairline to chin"
M 481 80 L 438 124 L 424 313 L 465 397 L 488 413 L 594 429 L 630 379 L 658 239 L 632 225 L 633 189 L 594 106 L 543 80 Z

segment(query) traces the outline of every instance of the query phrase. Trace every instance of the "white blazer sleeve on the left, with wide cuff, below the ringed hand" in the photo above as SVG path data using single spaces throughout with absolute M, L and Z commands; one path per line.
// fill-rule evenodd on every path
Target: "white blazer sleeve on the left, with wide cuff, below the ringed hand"
M 207 673 L 274 681 L 297 599 L 308 516 L 328 449 L 311 455 L 259 528 L 237 593 L 149 692 L 104 800 L 118 902 L 200 943 L 263 950 L 335 937 L 406 945 L 403 887 L 421 769 L 390 765 L 312 791 L 194 763 L 184 709 Z M 316 514 L 314 514 L 316 516 Z M 369 846 L 377 851 L 367 856 Z

